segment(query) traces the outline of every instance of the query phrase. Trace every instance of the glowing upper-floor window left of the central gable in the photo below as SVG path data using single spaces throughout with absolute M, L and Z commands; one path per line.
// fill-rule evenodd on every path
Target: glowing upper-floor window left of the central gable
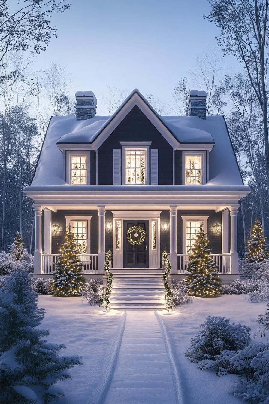
M 71 185 L 90 184 L 90 152 L 67 152 L 66 181 Z

